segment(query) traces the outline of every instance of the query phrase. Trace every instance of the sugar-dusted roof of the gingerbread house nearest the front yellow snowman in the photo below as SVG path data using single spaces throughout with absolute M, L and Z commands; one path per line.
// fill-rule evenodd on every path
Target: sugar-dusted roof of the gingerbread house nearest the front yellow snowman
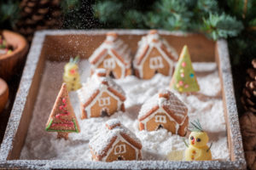
M 143 104 L 138 120 L 143 121 L 160 108 L 166 111 L 178 124 L 183 122 L 188 112 L 186 105 L 175 94 L 167 89 L 162 89 L 159 94 L 155 94 Z

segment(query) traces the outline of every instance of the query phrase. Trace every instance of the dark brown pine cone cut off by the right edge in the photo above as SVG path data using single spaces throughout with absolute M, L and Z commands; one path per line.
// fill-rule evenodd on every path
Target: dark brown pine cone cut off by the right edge
M 247 69 L 247 82 L 242 90 L 241 103 L 246 111 L 256 114 L 256 59 L 252 61 L 253 68 Z

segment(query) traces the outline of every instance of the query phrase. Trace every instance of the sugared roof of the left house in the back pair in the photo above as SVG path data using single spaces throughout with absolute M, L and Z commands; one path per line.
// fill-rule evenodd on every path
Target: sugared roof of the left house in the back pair
M 131 49 L 123 42 L 115 32 L 108 32 L 107 37 L 99 48 L 90 56 L 89 61 L 92 65 L 100 64 L 107 54 L 118 59 L 125 66 L 131 65 Z

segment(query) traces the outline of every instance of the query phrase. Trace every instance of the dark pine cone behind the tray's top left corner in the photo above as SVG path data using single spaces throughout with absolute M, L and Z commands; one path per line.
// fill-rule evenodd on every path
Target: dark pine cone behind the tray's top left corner
M 32 41 L 35 31 L 61 27 L 61 0 L 22 0 L 15 30 Z

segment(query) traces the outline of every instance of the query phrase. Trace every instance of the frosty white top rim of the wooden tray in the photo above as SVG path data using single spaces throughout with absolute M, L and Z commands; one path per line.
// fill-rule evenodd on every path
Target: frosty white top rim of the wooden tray
M 124 31 L 118 30 L 118 33 L 131 34 L 136 33 L 145 34 L 147 31 Z M 228 169 L 243 169 L 246 168 L 246 161 L 241 143 L 241 133 L 238 121 L 238 114 L 236 111 L 236 100 L 234 96 L 234 88 L 230 70 L 230 59 L 225 40 L 219 40 L 216 43 L 218 54 L 219 73 L 222 76 L 222 88 L 224 93 L 224 102 L 226 104 L 227 122 L 230 124 L 230 139 L 233 145 L 231 160 L 235 161 L 122 161 L 114 163 L 92 162 L 92 161 L 50 161 L 50 160 L 8 160 L 9 151 L 13 148 L 15 135 L 20 126 L 20 118 L 24 110 L 26 100 L 24 97 L 28 95 L 29 91 L 34 90 L 32 87 L 32 78 L 37 69 L 38 59 L 43 47 L 44 37 L 48 35 L 65 35 L 65 34 L 90 34 L 91 32 L 98 32 L 103 34 L 104 31 L 39 31 L 32 42 L 32 48 L 26 61 L 26 67 L 21 78 L 20 88 L 17 93 L 15 104 L 9 118 L 7 131 L 4 135 L 3 143 L 0 149 L 0 167 L 24 167 L 24 168 L 228 168 Z M 172 34 L 169 31 L 160 31 L 160 34 Z M 182 34 L 180 34 L 182 35 Z M 36 88 L 36 87 L 35 87 Z M 32 106 L 31 106 L 32 107 Z M 16 141 L 17 142 L 17 141 Z

